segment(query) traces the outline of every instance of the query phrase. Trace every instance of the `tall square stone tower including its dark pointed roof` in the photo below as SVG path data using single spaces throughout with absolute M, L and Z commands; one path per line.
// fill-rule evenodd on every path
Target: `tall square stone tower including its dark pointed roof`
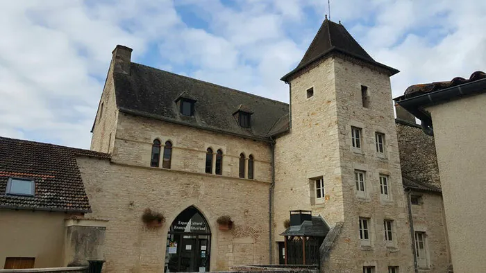
M 321 247 L 325 272 L 413 270 L 389 81 L 398 72 L 326 19 L 282 78 L 290 131 L 275 145 L 274 239 L 283 241 L 288 211 L 321 215 L 336 235 Z

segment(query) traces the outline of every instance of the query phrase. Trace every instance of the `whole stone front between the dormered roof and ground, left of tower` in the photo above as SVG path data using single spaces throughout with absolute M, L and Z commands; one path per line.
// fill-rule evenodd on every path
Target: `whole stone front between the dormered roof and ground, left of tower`
M 268 263 L 269 143 L 118 115 L 111 161 L 78 159 L 93 211 L 88 216 L 108 220 L 106 272 L 163 272 L 169 225 L 188 206 L 210 224 L 211 270 Z M 150 167 L 153 139 L 172 142 L 170 169 Z M 209 147 L 223 150 L 222 175 L 205 173 Z M 255 179 L 238 177 L 242 152 L 255 158 Z M 165 215 L 160 229 L 144 226 L 140 217 L 146 208 Z M 221 215 L 235 222 L 231 231 L 218 230 Z

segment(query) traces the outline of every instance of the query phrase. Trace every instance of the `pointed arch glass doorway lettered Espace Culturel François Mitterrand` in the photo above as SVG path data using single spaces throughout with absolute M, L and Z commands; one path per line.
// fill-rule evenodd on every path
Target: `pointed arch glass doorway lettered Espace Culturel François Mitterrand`
M 206 218 L 194 206 L 181 212 L 167 233 L 165 272 L 207 272 L 211 231 Z

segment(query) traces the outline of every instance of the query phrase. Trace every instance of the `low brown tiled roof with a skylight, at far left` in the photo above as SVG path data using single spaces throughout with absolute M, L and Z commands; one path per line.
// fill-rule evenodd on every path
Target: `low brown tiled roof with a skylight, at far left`
M 109 159 L 90 150 L 0 137 L 0 208 L 90 212 L 76 155 Z M 6 195 L 9 177 L 35 181 L 35 196 Z

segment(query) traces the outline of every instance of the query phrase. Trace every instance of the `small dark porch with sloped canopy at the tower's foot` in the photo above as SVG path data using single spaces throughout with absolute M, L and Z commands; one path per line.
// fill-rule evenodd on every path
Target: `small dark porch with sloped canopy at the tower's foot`
M 329 232 L 324 218 L 312 211 L 290 211 L 290 227 L 285 236 L 285 265 L 319 264 L 319 247 Z

